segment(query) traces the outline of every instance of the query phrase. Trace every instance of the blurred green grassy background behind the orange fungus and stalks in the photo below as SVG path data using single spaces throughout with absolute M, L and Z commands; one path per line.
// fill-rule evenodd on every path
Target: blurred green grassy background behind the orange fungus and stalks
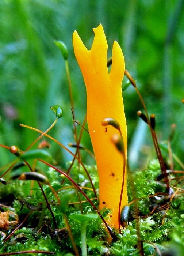
M 83 78 L 74 57 L 72 33 L 76 29 L 91 48 L 93 27 L 103 24 L 108 57 L 117 40 L 126 69 L 134 77 L 149 114 L 156 114 L 158 140 L 168 138 L 176 123 L 173 152 L 184 152 L 184 1 L 183 0 L 1 0 L 0 1 L 0 143 L 24 150 L 37 133 L 19 123 L 46 130 L 54 121 L 52 105 L 61 105 L 63 117 L 50 134 L 65 146 L 73 139 L 65 62 L 54 40 L 69 49 L 76 119 L 83 123 L 86 96 Z M 123 79 L 123 84 L 127 79 Z M 137 117 L 143 110 L 133 88 L 123 91 L 131 169 L 145 168 L 156 157 L 149 130 Z M 78 128 L 78 132 L 80 127 Z M 100 142 L 99 142 L 100 143 Z M 72 156 L 51 142 L 51 152 L 65 166 Z M 83 133 L 82 144 L 92 149 Z M 75 151 L 75 150 L 74 150 Z M 167 155 L 166 155 L 167 157 Z M 14 159 L 0 149 L 0 165 Z M 83 154 L 85 163 L 94 161 Z M 181 168 L 177 166 L 177 168 Z

